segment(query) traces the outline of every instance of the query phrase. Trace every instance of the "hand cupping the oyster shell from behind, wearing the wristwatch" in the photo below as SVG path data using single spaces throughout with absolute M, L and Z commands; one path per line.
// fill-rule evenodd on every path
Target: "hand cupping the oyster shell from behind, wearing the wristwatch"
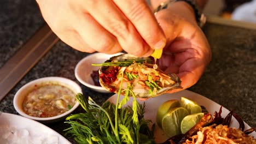
M 193 86 L 211 61 L 210 46 L 197 26 L 193 9 L 185 2 L 175 2 L 159 11 L 156 19 L 167 38 L 159 67 L 166 73 L 177 74 L 183 89 Z

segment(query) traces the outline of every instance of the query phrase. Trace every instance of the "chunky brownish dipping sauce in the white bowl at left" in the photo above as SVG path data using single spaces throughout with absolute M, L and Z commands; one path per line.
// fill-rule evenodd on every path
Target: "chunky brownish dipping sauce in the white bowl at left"
M 76 100 L 75 93 L 56 82 L 34 85 L 25 97 L 22 107 L 27 115 L 33 117 L 53 117 L 70 110 Z

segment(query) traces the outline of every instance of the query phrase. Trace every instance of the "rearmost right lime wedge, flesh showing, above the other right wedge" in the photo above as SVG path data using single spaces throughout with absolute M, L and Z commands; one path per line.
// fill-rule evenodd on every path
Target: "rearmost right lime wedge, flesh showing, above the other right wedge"
M 202 112 L 202 108 L 195 101 L 181 97 L 181 106 L 188 110 L 189 114 Z

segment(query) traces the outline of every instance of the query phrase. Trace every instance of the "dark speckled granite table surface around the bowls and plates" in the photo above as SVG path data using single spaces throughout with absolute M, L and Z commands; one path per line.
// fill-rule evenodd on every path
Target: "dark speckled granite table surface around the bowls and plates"
M 15 9 L 15 4 L 19 5 L 18 2 L 22 3 L 15 1 L 12 3 L 13 6 L 1 10 L 1 14 L 9 15 L 0 17 L 0 68 L 37 29 L 44 25 L 44 20 L 33 1 L 27 1 L 29 4 L 23 12 L 24 15 L 17 19 L 16 14 L 19 11 Z M 6 11 L 14 11 L 16 14 Z M 203 32 L 211 46 L 212 61 L 201 79 L 188 90 L 199 93 L 229 110 L 234 110 L 243 121 L 251 127 L 256 127 L 256 30 L 207 23 Z M 74 50 L 62 41 L 57 42 L 0 101 L 0 111 L 18 115 L 13 106 L 15 93 L 27 82 L 46 76 L 61 76 L 74 80 L 82 87 L 84 94 L 92 97 L 98 104 L 102 104 L 113 93 L 103 94 L 92 91 L 79 83 L 74 76 L 75 65 L 88 55 L 90 53 Z M 80 111 L 82 111 L 81 107 L 75 110 L 75 112 Z M 46 125 L 75 143 L 71 136 L 63 132 L 68 128 L 64 121 Z

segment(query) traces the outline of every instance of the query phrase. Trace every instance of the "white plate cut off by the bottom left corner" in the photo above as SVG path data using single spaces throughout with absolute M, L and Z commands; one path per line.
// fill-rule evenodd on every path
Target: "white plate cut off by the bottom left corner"
M 0 112 L 0 143 L 65 143 L 65 137 L 32 119 Z

